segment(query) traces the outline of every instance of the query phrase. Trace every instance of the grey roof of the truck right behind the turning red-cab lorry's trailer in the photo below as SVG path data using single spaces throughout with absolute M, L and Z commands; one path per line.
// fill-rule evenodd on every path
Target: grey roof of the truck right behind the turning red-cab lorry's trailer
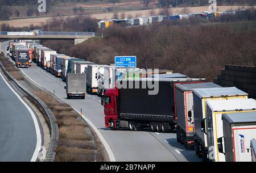
M 213 82 L 205 82 L 205 83 L 177 84 L 176 88 L 181 91 L 192 91 L 195 88 L 221 88 L 221 86 Z

